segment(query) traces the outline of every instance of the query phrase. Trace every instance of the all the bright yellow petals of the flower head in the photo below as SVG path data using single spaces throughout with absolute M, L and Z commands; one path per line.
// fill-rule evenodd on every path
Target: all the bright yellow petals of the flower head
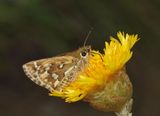
M 50 96 L 61 97 L 66 102 L 76 102 L 103 89 L 112 75 L 122 69 L 131 58 L 130 49 L 138 41 L 137 35 L 118 32 L 117 36 L 119 40 L 111 37 L 110 43 L 105 42 L 104 54 L 93 50 L 87 67 L 76 80 L 63 91 L 53 91 Z

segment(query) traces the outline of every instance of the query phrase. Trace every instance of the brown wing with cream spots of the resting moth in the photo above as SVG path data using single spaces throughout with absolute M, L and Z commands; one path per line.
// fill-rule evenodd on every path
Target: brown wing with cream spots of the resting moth
M 33 82 L 53 91 L 62 82 L 66 73 L 71 72 L 76 62 L 77 58 L 73 56 L 52 57 L 26 63 L 23 70 Z

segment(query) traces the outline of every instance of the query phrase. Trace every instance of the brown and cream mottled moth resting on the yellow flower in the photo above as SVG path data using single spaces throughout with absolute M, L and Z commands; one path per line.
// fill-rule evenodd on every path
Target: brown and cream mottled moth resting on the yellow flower
M 24 64 L 23 69 L 39 86 L 49 91 L 62 91 L 88 64 L 90 51 L 90 46 L 82 47 L 65 55 L 31 61 Z

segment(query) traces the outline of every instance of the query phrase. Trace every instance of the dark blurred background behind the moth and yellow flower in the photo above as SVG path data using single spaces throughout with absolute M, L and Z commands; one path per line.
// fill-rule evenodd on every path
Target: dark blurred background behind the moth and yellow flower
M 127 64 L 133 115 L 160 116 L 160 0 L 0 0 L 0 116 L 114 116 L 49 97 L 21 67 L 82 46 L 91 27 L 100 51 L 117 31 L 139 35 Z

